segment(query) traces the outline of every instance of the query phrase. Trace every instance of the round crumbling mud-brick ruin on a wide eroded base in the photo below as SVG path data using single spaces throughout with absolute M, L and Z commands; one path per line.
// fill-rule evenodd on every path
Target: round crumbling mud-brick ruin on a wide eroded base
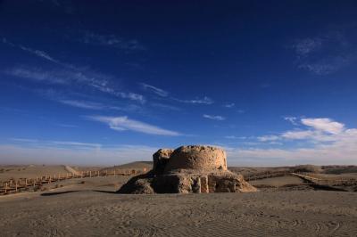
M 226 152 L 202 145 L 160 149 L 153 169 L 121 186 L 120 193 L 255 192 L 243 176 L 228 170 Z

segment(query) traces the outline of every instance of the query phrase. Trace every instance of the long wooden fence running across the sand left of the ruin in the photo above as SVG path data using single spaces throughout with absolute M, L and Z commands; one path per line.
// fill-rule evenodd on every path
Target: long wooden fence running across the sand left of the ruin
M 15 192 L 28 191 L 29 189 L 39 189 L 43 184 L 52 184 L 66 179 L 99 177 L 99 176 L 131 176 L 144 174 L 143 169 L 110 169 L 110 170 L 89 170 L 75 173 L 56 174 L 53 176 L 37 176 L 36 178 L 18 178 L 0 182 L 0 195 Z

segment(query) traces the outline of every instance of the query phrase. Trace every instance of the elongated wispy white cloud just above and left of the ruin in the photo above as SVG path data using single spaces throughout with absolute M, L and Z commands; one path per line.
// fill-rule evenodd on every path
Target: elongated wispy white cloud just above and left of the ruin
M 137 120 L 128 119 L 127 116 L 121 116 L 121 117 L 91 116 L 91 117 L 87 117 L 87 119 L 91 119 L 94 121 L 107 124 L 110 128 L 116 131 L 130 130 L 130 131 L 135 131 L 135 132 L 149 134 L 149 135 L 172 135 L 172 136 L 181 135 L 175 131 L 149 125 Z

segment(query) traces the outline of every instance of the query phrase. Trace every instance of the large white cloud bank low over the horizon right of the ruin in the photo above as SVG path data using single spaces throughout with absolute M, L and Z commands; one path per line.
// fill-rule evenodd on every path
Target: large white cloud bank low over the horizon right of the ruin
M 303 163 L 356 164 L 357 128 L 347 129 L 344 124 L 327 118 L 301 119 L 301 123 L 306 127 L 305 130 L 258 137 L 261 142 L 270 144 L 284 144 L 292 140 L 305 142 L 301 143 L 298 148 L 288 146 L 285 149 L 243 149 L 236 147 L 228 149 L 228 157 L 245 160 L 245 162 L 259 162 L 261 166 L 262 164 Z

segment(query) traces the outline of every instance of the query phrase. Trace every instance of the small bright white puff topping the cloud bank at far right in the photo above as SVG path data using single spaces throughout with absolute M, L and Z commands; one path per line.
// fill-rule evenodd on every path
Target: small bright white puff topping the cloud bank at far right
M 301 119 L 303 125 L 313 127 L 322 132 L 339 134 L 345 129 L 345 125 L 331 119 Z

